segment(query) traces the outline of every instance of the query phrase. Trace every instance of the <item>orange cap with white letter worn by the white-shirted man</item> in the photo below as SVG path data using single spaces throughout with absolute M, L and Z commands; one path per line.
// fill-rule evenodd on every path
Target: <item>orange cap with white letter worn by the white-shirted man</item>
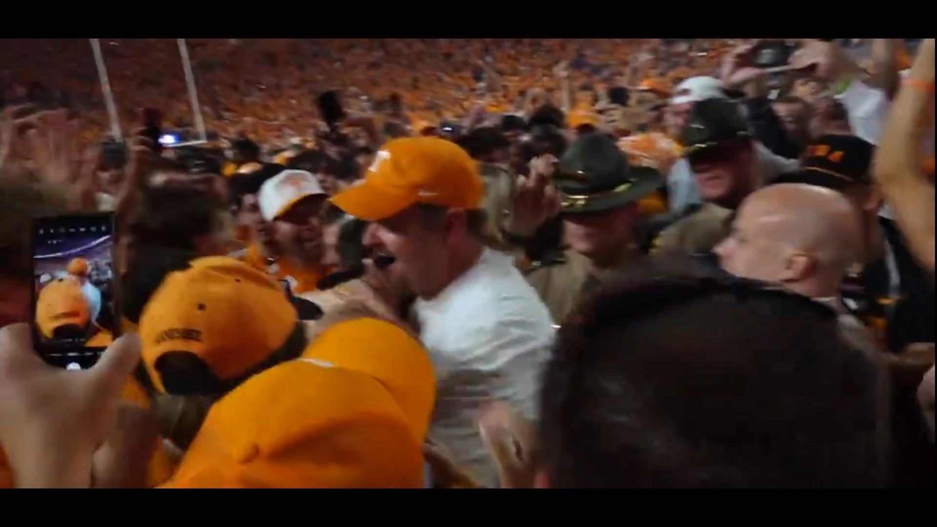
M 484 184 L 478 166 L 455 143 L 435 137 L 384 145 L 363 180 L 332 198 L 355 218 L 379 221 L 417 204 L 481 208 Z

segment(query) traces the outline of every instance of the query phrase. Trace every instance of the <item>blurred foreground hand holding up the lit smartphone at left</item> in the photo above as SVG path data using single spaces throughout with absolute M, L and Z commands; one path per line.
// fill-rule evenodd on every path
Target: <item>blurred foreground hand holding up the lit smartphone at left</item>
M 27 324 L 0 329 L 0 444 L 20 487 L 87 488 L 112 431 L 140 339 L 117 339 L 91 369 L 46 364 Z

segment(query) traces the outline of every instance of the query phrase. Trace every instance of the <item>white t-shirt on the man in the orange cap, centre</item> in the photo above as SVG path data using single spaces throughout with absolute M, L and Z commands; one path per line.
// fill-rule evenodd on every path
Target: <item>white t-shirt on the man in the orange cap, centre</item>
M 491 249 L 415 309 L 437 378 L 429 436 L 484 486 L 497 487 L 498 470 L 475 419 L 485 402 L 496 400 L 536 418 L 541 369 L 554 338 L 550 312 L 511 257 Z

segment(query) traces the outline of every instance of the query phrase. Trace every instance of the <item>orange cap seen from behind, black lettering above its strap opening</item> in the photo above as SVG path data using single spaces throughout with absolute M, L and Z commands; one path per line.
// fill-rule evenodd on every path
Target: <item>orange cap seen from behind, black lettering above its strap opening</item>
M 153 383 L 173 395 L 191 395 L 192 389 L 167 383 L 160 372 L 167 354 L 193 354 L 226 383 L 297 342 L 294 356 L 305 347 L 303 326 L 282 285 L 229 257 L 201 258 L 171 273 L 143 309 L 139 335 Z

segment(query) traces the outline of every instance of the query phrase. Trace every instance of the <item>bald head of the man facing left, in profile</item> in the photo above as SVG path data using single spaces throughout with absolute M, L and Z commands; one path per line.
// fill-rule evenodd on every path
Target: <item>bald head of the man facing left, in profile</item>
M 868 329 L 842 303 L 842 280 L 861 257 L 858 211 L 839 192 L 812 185 L 762 188 L 738 209 L 732 233 L 717 248 L 722 267 L 777 283 L 840 313 L 843 338 L 876 354 Z

